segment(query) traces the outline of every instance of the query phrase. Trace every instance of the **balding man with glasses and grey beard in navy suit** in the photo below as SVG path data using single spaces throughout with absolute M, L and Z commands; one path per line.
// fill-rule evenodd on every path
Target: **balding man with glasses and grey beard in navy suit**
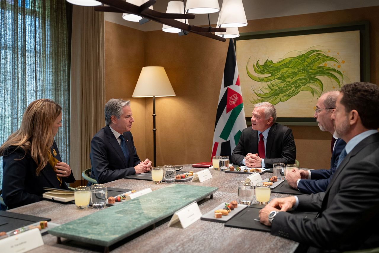
M 324 93 L 317 101 L 315 109 L 316 122 L 321 131 L 328 131 L 333 134 L 331 143 L 332 158 L 330 159 L 330 169 L 318 169 L 304 171 L 302 169 L 287 172 L 286 180 L 288 184 L 301 191 L 302 193 L 318 193 L 325 191 L 328 187 L 332 176 L 337 169 L 338 157 L 345 148 L 346 142 L 337 138 L 334 134 L 333 120 L 331 119 L 334 112 L 335 102 L 340 94 L 338 91 Z

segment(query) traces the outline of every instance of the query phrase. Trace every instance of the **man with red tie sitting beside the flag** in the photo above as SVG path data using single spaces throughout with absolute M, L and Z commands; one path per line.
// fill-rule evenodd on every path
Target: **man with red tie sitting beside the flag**
M 242 131 L 232 153 L 232 163 L 251 168 L 273 168 L 274 163 L 295 163 L 296 146 L 292 130 L 275 122 L 276 109 L 272 104 L 256 104 L 251 127 Z

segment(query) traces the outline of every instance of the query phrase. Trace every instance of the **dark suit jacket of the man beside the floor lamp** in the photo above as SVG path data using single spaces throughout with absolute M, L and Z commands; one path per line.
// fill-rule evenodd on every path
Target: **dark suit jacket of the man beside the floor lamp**
M 109 126 L 100 129 L 92 138 L 89 155 L 92 165 L 91 177 L 98 183 L 111 182 L 135 174 L 133 167 L 141 161 L 134 146 L 132 133 L 125 132 L 123 135 L 130 155 L 128 162 Z

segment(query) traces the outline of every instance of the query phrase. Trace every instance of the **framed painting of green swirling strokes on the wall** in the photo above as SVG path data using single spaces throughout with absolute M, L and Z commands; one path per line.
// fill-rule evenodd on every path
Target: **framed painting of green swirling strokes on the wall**
M 270 74 L 261 74 L 262 72 L 255 73 L 255 70 L 260 67 L 264 69 L 265 67 L 271 67 L 271 65 L 277 66 L 275 64 L 293 59 L 294 55 L 296 56 L 295 58 L 301 57 L 301 55 L 309 55 L 312 53 L 310 51 L 313 50 L 315 54 L 319 54 L 318 52 L 324 54 L 321 55 L 324 58 L 329 57 L 330 59 L 335 59 L 335 61 L 324 60 L 318 65 L 318 69 L 325 68 L 331 70 L 330 72 L 326 72 L 325 76 L 321 74 L 321 77 L 316 77 L 316 79 L 321 80 L 321 82 L 316 81 L 315 86 L 322 83 L 320 85 L 323 89 L 320 87 L 307 87 L 305 91 L 296 93 L 299 87 L 300 89 L 304 89 L 301 86 L 304 84 L 296 84 L 298 85 L 296 86 L 296 92 L 290 93 L 287 97 L 283 98 L 283 100 L 286 100 L 290 97 L 288 101 L 282 102 L 282 100 L 278 100 L 278 96 L 272 96 L 269 98 L 271 99 L 269 102 L 274 101 L 273 104 L 278 114 L 277 122 L 285 125 L 317 125 L 310 110 L 314 109 L 317 98 L 322 93 L 328 91 L 326 87 L 329 87 L 330 90 L 332 88 L 339 90 L 340 86 L 338 85 L 355 82 L 358 79 L 360 81 L 370 82 L 369 32 L 369 22 L 361 21 L 348 24 L 318 25 L 241 33 L 240 37 L 234 38 L 241 89 L 243 96 L 244 92 L 245 94 L 247 92 L 249 95 L 251 93 L 252 97 L 255 95 L 255 98 L 252 100 L 249 96 L 244 96 L 245 115 L 250 115 L 254 107 L 253 105 L 260 102 L 260 94 L 266 96 L 266 94 L 272 92 L 272 90 L 269 90 L 269 86 L 276 85 L 276 83 L 279 83 L 279 85 L 285 85 L 287 83 L 293 84 L 292 80 L 285 84 L 283 84 L 282 80 L 266 81 L 267 78 L 264 79 L 263 77 L 270 76 Z M 292 44 L 294 44 L 294 46 L 292 46 Z M 283 48 L 280 48 L 280 45 L 282 45 Z M 293 48 L 291 48 L 291 46 Z M 327 50 L 328 47 L 332 48 L 330 49 L 332 52 Z M 341 55 L 339 54 L 340 51 Z M 328 52 L 330 52 L 330 55 Z M 345 57 L 349 59 L 346 60 L 346 63 L 345 60 L 343 60 Z M 357 64 L 358 60 L 359 64 Z M 312 69 L 310 71 L 315 70 Z M 258 72 L 260 72 L 259 69 Z M 299 71 L 295 72 L 298 73 Z M 352 78 L 349 78 L 349 76 L 352 76 Z M 271 74 L 270 77 L 273 77 L 273 74 Z M 336 77 L 338 77 L 339 80 L 337 80 Z M 266 86 L 268 88 L 266 88 Z M 262 89 L 260 89 L 261 87 Z M 255 93 L 258 93 L 258 95 Z M 291 95 L 293 96 L 291 97 Z M 262 100 L 265 99 L 266 98 Z M 304 112 L 298 110 L 298 108 L 304 108 Z M 298 115 L 293 116 L 292 112 L 296 112 Z M 246 122 L 250 122 L 250 118 L 251 117 L 246 117 Z

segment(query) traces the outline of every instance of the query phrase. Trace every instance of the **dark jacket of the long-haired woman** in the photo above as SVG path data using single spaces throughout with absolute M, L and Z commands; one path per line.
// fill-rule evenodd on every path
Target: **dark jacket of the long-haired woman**
M 54 141 L 51 153 L 55 149 L 58 161 L 62 161 L 58 147 Z M 68 190 L 66 183 L 75 182 L 74 175 L 62 177 L 62 184 L 56 178 L 52 166 L 47 163 L 36 176 L 37 164 L 31 158 L 30 152 L 9 147 L 3 156 L 3 199 L 9 209 L 42 200 L 44 187 L 62 188 Z

